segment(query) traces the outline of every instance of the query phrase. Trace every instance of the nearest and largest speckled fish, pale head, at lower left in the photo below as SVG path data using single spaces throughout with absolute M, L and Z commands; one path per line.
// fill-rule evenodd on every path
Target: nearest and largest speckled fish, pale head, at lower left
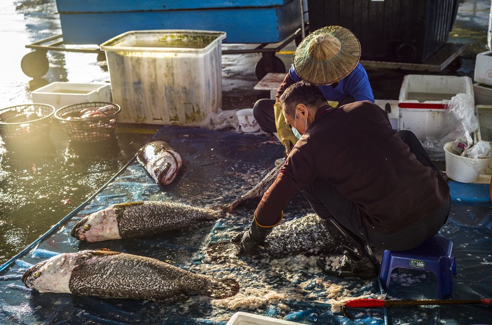
M 194 274 L 152 258 L 107 249 L 54 256 L 29 268 L 22 282 L 40 293 L 155 302 L 185 301 L 190 292 L 225 298 L 239 290 L 232 279 Z

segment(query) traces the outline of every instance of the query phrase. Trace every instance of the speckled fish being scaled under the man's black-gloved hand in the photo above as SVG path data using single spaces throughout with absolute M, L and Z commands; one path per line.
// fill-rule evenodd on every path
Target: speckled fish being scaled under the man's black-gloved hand
M 274 227 L 263 243 L 263 252 L 272 258 L 281 258 L 298 254 L 314 255 L 321 252 L 333 252 L 337 244 L 316 214 L 283 222 Z M 239 248 L 231 242 L 216 242 L 207 247 L 207 255 L 215 261 L 223 261 L 237 256 Z

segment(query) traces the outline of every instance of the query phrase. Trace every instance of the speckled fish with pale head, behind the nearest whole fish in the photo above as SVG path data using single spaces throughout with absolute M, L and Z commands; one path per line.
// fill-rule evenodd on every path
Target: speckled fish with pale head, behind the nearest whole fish
M 221 211 L 181 203 L 137 201 L 115 204 L 82 218 L 71 236 L 89 242 L 148 236 L 185 229 L 201 219 L 215 219 Z

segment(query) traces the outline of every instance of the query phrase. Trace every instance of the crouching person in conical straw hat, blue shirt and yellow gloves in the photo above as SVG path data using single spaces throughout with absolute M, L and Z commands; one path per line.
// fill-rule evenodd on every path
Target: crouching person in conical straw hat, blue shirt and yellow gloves
M 285 153 L 290 152 L 300 135 L 285 123 L 277 103 L 287 87 L 301 80 L 318 85 L 332 107 L 359 100 L 374 102 L 360 57 L 359 40 L 343 27 L 327 26 L 307 35 L 296 49 L 294 64 L 277 90 L 277 99 L 260 99 L 253 107 L 261 129 L 276 133 Z

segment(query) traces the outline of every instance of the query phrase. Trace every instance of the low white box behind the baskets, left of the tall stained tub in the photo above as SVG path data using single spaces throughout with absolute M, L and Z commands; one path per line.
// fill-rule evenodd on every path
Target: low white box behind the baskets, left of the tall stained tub
M 31 94 L 33 103 L 60 108 L 86 102 L 111 102 L 111 85 L 54 82 L 33 90 Z

